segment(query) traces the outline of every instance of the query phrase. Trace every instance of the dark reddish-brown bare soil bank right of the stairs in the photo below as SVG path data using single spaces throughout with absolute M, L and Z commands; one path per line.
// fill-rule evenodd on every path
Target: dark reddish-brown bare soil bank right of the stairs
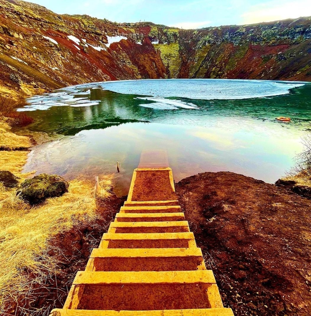
M 181 180 L 186 220 L 236 316 L 311 314 L 311 201 L 230 172 Z

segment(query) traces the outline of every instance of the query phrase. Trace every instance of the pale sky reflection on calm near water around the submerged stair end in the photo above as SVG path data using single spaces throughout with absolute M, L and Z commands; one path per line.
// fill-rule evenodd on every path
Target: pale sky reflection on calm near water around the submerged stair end
M 300 138 L 284 130 L 281 135 L 252 129 L 195 127 L 158 123 L 129 123 L 106 129 L 81 131 L 76 136 L 34 147 L 25 171 L 57 173 L 68 179 L 82 174 L 114 173 L 116 192 L 126 194 L 140 153 L 166 149 L 176 181 L 205 171 L 233 171 L 267 182 L 276 181 L 301 151 Z

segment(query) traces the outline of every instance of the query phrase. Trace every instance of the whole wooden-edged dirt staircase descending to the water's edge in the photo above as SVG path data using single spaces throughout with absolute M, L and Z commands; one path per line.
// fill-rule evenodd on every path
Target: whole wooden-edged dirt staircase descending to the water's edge
M 138 168 L 127 201 L 53 316 L 233 316 L 189 230 L 172 169 Z

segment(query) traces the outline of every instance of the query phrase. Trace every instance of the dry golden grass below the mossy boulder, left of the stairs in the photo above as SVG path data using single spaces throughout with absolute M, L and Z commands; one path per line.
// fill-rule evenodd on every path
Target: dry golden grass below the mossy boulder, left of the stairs
M 111 180 L 105 182 L 102 190 L 107 197 Z M 57 263 L 46 251 L 53 236 L 98 217 L 93 183 L 73 180 L 68 190 L 31 208 L 16 197 L 15 190 L 0 187 L 0 312 L 27 292 L 31 283 L 42 282 L 55 269 Z M 21 273 L 25 269 L 28 273 Z M 37 278 L 29 279 L 29 272 Z

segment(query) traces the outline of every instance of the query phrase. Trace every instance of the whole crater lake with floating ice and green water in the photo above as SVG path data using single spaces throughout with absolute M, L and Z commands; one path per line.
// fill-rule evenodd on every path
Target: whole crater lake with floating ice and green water
M 30 152 L 25 172 L 72 179 L 115 171 L 126 194 L 143 150 L 166 149 L 175 180 L 233 171 L 275 182 L 310 132 L 311 84 L 175 79 L 101 82 L 28 99 L 30 131 L 62 135 Z M 288 116 L 290 123 L 275 120 Z

